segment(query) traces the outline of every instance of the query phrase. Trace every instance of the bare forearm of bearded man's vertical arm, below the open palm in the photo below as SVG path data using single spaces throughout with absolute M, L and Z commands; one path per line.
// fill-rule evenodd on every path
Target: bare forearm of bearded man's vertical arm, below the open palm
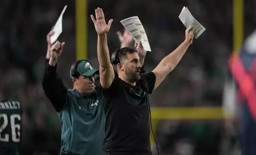
M 111 65 L 109 47 L 107 45 L 107 34 L 98 35 L 97 55 L 101 66 L 107 68 L 107 66 Z

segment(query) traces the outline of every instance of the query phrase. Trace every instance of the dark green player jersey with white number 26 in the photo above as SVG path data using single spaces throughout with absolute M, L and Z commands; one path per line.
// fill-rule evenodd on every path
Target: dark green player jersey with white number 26
M 0 155 L 19 155 L 21 115 L 17 100 L 0 101 Z

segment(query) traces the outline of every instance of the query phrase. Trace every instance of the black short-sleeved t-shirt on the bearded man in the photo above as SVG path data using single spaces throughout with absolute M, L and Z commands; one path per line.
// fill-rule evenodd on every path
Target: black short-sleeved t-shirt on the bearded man
M 103 89 L 106 116 L 105 152 L 151 153 L 149 97 L 155 86 L 155 74 L 141 76 L 136 85 L 115 74 L 108 89 Z

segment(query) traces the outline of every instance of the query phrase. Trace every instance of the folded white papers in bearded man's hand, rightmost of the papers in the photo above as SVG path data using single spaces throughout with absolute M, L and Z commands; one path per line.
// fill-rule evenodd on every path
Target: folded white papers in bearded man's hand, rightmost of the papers
M 188 8 L 183 7 L 180 15 L 178 16 L 180 21 L 183 23 L 183 25 L 187 28 L 190 29 L 192 27 L 195 27 L 194 30 L 194 38 L 198 38 L 205 30 L 204 26 L 202 26 L 190 13 Z

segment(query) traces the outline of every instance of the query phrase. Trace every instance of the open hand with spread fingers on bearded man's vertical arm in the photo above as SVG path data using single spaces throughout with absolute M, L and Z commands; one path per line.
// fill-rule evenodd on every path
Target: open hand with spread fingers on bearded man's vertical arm
M 91 20 L 94 23 L 95 30 L 96 30 L 97 34 L 102 35 L 102 34 L 106 34 L 107 32 L 109 32 L 109 29 L 111 27 L 113 19 L 110 19 L 109 23 L 106 24 L 105 16 L 104 16 L 103 10 L 101 8 L 95 9 L 95 16 L 96 16 L 96 21 L 95 21 L 93 15 L 91 15 Z

